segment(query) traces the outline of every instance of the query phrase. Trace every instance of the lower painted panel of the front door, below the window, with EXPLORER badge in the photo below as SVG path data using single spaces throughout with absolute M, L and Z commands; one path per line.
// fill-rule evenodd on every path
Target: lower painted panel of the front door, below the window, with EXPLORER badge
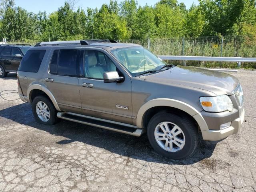
M 93 87 L 84 87 L 83 84 Z M 104 83 L 103 80 L 79 78 L 82 111 L 87 115 L 107 118 L 118 122 L 132 123 L 132 84 L 130 80 L 122 83 Z M 116 108 L 116 105 L 128 109 Z

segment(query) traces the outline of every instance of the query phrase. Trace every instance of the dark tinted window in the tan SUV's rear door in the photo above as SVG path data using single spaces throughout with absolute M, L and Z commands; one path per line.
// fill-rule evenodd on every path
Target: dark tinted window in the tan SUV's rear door
M 79 76 L 78 53 L 76 49 L 55 50 L 50 63 L 50 73 Z

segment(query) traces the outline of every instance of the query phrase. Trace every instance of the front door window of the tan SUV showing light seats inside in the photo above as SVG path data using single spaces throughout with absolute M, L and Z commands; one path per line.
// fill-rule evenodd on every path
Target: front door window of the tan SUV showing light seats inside
M 116 71 L 115 64 L 100 51 L 87 50 L 84 54 L 84 76 L 103 79 L 104 72 Z

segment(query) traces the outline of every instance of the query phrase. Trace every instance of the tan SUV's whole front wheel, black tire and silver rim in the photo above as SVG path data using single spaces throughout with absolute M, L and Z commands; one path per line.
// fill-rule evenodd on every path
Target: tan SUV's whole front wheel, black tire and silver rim
M 190 156 L 198 143 L 198 131 L 189 118 L 160 112 L 148 123 L 148 140 L 156 152 L 171 159 Z

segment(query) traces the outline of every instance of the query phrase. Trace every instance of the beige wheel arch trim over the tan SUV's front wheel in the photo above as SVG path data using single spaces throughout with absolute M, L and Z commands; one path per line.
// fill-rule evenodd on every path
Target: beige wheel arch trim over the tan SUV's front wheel
M 175 114 L 183 113 L 194 120 L 200 130 L 209 130 L 204 118 L 198 110 L 185 102 L 167 98 L 153 99 L 141 106 L 136 118 L 136 126 L 138 128 L 145 128 L 145 119 L 147 118 L 148 112 L 152 109 L 157 112 L 168 110 Z

